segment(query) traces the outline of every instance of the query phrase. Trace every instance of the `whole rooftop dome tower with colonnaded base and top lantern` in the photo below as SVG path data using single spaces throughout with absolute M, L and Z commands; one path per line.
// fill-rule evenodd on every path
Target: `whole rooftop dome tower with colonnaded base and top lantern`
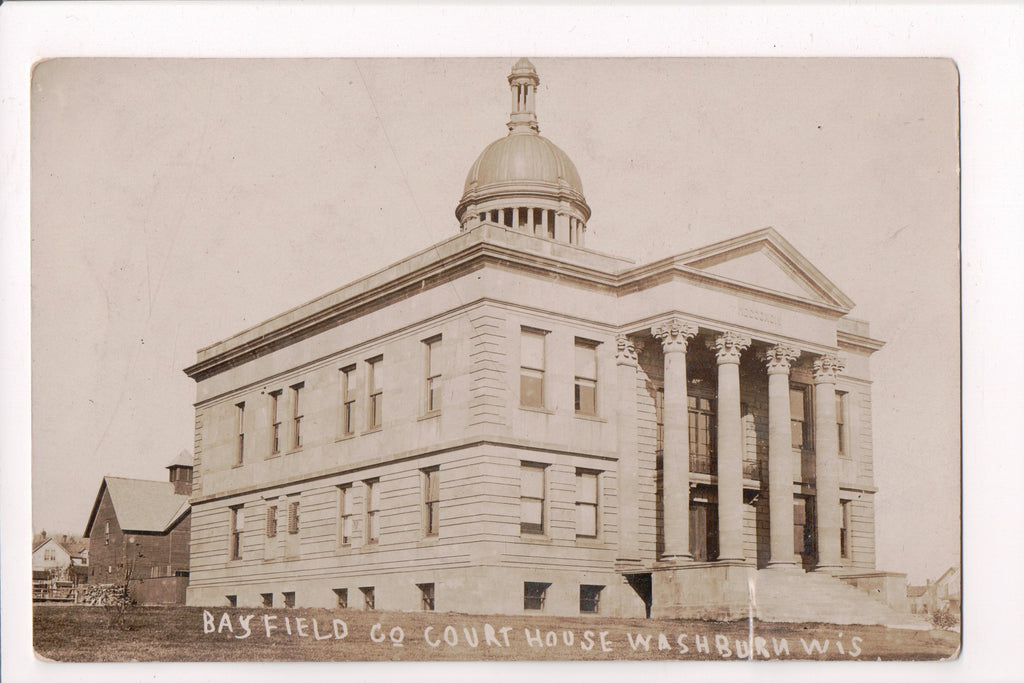
M 572 161 L 541 135 L 536 111 L 541 79 L 529 59 L 522 58 L 508 81 L 509 133 L 484 147 L 469 169 L 455 210 L 460 229 L 489 222 L 582 247 L 590 207 Z

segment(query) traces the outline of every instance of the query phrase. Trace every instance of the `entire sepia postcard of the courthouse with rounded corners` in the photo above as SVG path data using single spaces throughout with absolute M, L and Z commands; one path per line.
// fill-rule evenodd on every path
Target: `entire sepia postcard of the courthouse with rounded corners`
M 956 61 L 483 54 L 34 65 L 37 666 L 952 666 Z

